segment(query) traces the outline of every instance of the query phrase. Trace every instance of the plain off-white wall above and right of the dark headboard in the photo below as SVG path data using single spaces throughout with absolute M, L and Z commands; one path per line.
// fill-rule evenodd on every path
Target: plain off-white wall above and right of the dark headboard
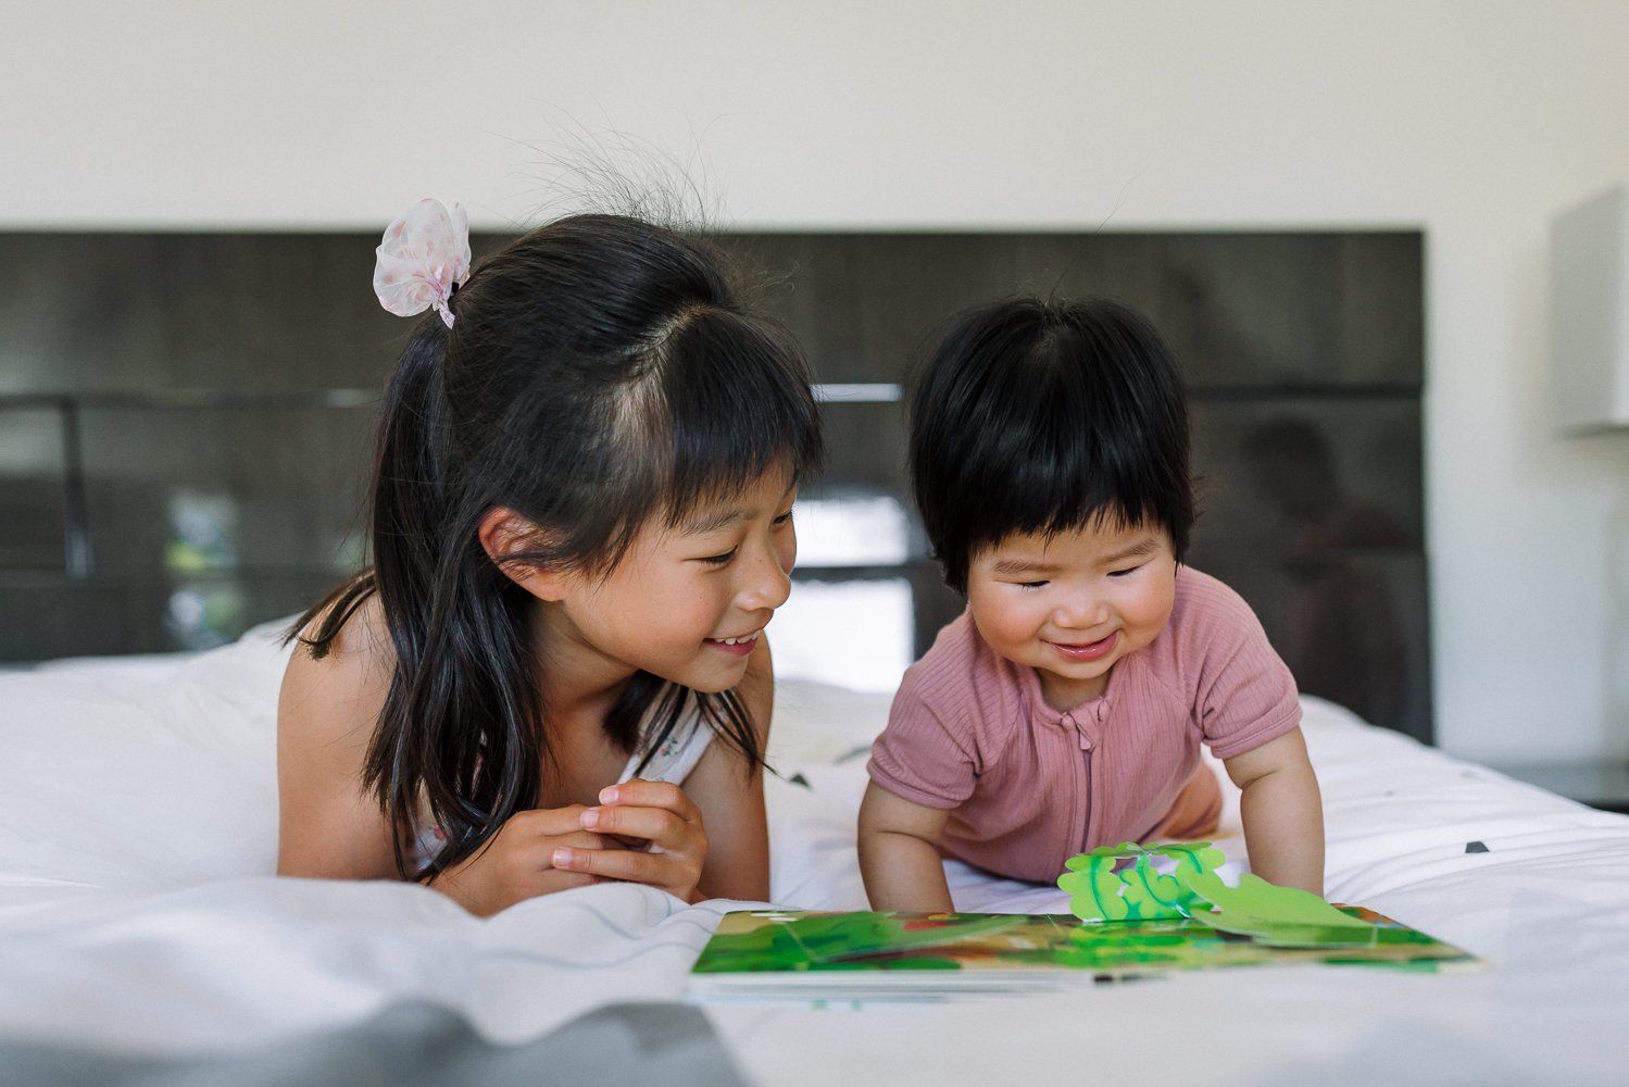
M 0 228 L 503 225 L 606 125 L 740 227 L 1422 227 L 1440 742 L 1629 756 L 1629 435 L 1552 437 L 1544 347 L 1629 5 L 59 0 L 0 104 Z

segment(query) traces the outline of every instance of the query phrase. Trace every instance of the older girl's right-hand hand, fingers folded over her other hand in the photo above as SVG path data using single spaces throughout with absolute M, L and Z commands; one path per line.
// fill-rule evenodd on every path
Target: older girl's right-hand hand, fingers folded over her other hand
M 684 901 L 700 901 L 696 885 L 707 864 L 702 813 L 684 790 L 665 781 L 624 781 L 599 792 L 599 807 L 582 808 L 578 826 L 621 839 L 626 849 L 554 849 L 557 870 L 647 883 Z

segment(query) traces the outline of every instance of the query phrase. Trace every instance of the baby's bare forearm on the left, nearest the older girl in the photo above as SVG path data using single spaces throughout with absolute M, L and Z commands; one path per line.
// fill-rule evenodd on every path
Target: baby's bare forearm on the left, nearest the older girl
M 950 913 L 938 836 L 950 812 L 912 803 L 875 781 L 860 803 L 860 877 L 872 909 Z

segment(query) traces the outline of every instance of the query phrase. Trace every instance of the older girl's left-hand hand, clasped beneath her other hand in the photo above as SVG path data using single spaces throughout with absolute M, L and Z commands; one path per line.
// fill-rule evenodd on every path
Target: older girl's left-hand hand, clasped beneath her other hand
M 586 856 L 606 847 L 603 836 L 583 830 L 586 810 L 582 803 L 573 803 L 565 808 L 516 812 L 490 841 L 428 883 L 482 918 L 526 898 L 598 883 L 586 869 L 570 872 L 554 864 L 555 851 L 560 849 Z

